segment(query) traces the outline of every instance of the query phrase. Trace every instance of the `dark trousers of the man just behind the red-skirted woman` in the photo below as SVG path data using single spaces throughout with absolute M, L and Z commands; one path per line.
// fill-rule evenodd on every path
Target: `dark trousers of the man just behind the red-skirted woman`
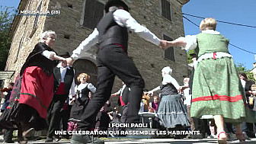
M 53 138 L 54 131 L 60 130 L 60 124 L 59 124 L 61 120 L 60 110 L 63 108 L 66 99 L 67 99 L 66 94 L 53 95 L 53 101 L 51 102 L 48 110 L 47 119 L 49 123 L 49 129 L 48 129 L 47 137 Z

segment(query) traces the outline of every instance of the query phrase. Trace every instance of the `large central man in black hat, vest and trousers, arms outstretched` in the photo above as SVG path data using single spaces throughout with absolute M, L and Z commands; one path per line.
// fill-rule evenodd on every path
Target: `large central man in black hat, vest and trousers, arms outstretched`
M 67 62 L 72 63 L 98 42 L 98 88 L 94 97 L 85 107 L 85 113 L 78 122 L 78 130 L 91 130 L 92 120 L 98 114 L 103 104 L 110 98 L 117 75 L 130 88 L 127 123 L 139 123 L 139 104 L 142 99 L 142 90 L 145 86 L 139 70 L 133 60 L 127 55 L 128 30 L 139 34 L 139 37 L 160 46 L 163 49 L 167 41 L 160 40 L 146 27 L 138 24 L 128 12 L 128 6 L 121 0 L 109 0 L 105 5 L 106 14 L 98 26 L 72 53 Z M 72 143 L 99 142 L 91 136 L 74 135 Z

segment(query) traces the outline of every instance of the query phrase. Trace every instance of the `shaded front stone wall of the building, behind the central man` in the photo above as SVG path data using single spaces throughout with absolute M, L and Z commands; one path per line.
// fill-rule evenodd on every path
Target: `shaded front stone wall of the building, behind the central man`
M 92 30 L 82 27 L 82 8 L 84 0 L 50 1 L 49 8 L 59 8 L 60 15 L 47 17 L 45 30 L 55 30 L 58 34 L 56 41 L 56 50 L 66 50 L 72 52 L 82 40 L 85 40 Z M 100 2 L 104 3 L 104 0 Z M 171 2 L 172 21 L 161 16 L 161 1 L 159 0 L 136 0 L 125 1 L 130 7 L 130 14 L 139 24 L 149 28 L 156 36 L 163 38 L 163 34 L 172 39 L 184 35 L 184 25 L 182 20 L 182 5 L 178 1 Z M 72 8 L 68 5 L 72 4 Z M 65 35 L 70 35 L 65 39 Z M 174 49 L 176 62 L 163 59 L 163 50 L 154 44 L 143 40 L 138 35 L 130 33 L 129 37 L 129 56 L 133 58 L 139 72 L 146 81 L 146 89 L 155 88 L 162 81 L 161 69 L 165 66 L 171 66 L 173 76 L 177 78 L 180 85 L 183 83 L 184 76 L 187 75 L 187 53 L 184 50 Z M 96 48 L 92 48 L 90 53 L 95 54 Z M 120 88 L 121 82 L 117 80 L 114 85 L 114 91 Z

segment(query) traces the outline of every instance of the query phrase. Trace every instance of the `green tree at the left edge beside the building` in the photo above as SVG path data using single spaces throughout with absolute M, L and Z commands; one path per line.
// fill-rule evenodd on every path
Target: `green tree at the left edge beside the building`
M 9 31 L 14 18 L 14 9 L 0 6 L 0 70 L 5 69 L 6 60 L 11 46 Z

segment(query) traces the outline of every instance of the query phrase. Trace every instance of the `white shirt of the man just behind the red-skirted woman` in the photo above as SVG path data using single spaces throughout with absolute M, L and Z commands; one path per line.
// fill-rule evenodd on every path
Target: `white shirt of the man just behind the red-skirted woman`
M 61 75 L 61 81 L 60 82 L 64 82 L 66 71 L 67 71 L 67 69 L 70 69 L 70 67 L 66 66 L 66 68 L 64 68 L 62 66 L 62 62 L 59 62 L 59 64 L 56 67 L 59 68 L 59 71 L 60 71 L 60 75 Z M 74 73 L 75 73 L 75 70 L 74 70 Z M 75 79 L 73 78 L 73 82 L 72 82 L 72 85 L 71 85 L 70 90 L 69 90 L 69 98 L 72 99 L 72 96 L 74 96 L 74 95 L 75 95 Z

